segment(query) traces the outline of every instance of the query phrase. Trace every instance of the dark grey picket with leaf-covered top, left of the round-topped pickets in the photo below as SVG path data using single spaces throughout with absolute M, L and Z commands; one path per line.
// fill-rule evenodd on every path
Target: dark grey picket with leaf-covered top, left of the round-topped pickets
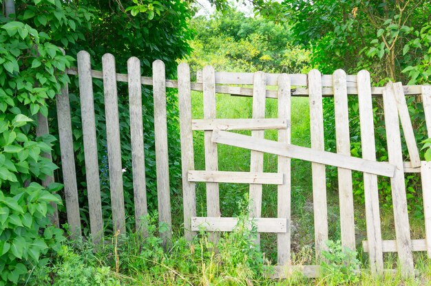
M 72 122 L 70 119 L 69 86 L 67 84 L 61 89 L 61 94 L 55 96 L 55 101 L 57 124 L 59 124 L 61 171 L 63 174 L 67 224 L 72 234 L 71 238 L 78 239 L 82 235 L 81 217 L 79 215 Z

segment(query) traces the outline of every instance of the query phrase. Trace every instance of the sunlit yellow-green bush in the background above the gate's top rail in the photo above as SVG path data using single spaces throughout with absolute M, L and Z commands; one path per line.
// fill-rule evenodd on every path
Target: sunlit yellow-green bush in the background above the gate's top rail
M 309 53 L 291 44 L 286 25 L 246 17 L 233 9 L 191 19 L 196 38 L 191 42 L 191 69 L 213 65 L 231 72 L 300 73 L 310 69 Z

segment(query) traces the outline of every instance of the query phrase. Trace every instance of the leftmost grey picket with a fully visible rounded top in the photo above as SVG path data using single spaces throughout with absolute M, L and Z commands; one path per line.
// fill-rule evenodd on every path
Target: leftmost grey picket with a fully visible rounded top
M 78 79 L 81 98 L 81 120 L 85 155 L 85 177 L 87 179 L 88 208 L 92 241 L 103 241 L 103 218 L 101 185 L 98 173 L 96 125 L 94 116 L 93 83 L 90 54 L 78 52 Z

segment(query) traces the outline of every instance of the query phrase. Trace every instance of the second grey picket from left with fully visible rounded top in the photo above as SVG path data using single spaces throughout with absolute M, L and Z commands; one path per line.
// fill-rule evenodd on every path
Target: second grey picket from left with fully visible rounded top
M 123 194 L 123 167 L 121 163 L 115 58 L 112 54 L 104 54 L 102 56 L 102 69 L 112 220 L 114 221 L 114 233 L 120 231 L 120 233 L 124 234 L 126 231 L 126 221 Z

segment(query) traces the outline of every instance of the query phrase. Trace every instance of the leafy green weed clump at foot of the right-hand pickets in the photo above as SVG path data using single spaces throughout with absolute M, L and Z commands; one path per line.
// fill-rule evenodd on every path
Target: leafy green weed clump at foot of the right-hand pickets
M 341 241 L 327 241 L 322 252 L 322 281 L 325 285 L 355 285 L 359 283 L 360 263 L 357 252 L 341 246 Z

